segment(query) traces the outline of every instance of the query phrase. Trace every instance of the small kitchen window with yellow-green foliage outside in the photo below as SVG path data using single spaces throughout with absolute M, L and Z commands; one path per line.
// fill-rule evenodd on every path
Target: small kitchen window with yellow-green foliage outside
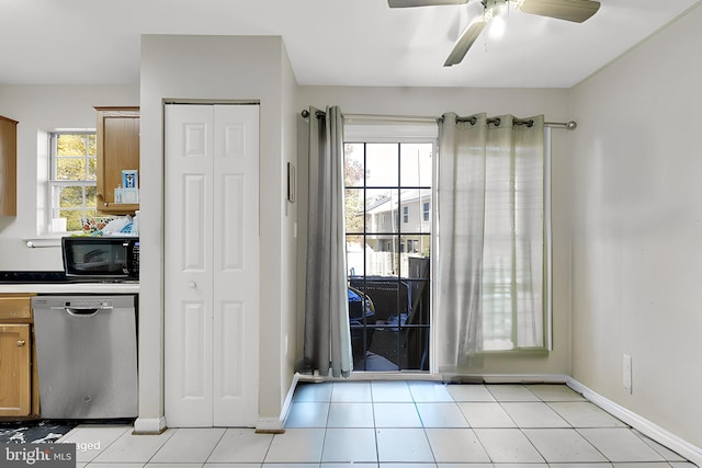
M 52 217 L 65 218 L 67 231 L 80 230 L 81 218 L 97 214 L 95 133 L 52 133 L 49 145 Z

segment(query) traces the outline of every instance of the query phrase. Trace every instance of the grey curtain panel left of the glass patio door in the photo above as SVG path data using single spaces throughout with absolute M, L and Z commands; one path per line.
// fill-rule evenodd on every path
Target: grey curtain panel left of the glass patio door
M 343 217 L 343 119 L 339 107 L 309 109 L 309 212 L 305 366 L 351 375 L 351 331 Z

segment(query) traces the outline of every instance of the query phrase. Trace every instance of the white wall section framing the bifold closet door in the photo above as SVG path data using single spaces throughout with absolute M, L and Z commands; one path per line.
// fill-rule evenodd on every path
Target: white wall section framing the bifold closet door
M 139 306 L 139 419 L 163 414 L 162 401 L 162 101 L 260 101 L 261 300 L 259 414 L 275 419 L 292 381 L 283 346 L 294 346 L 295 262 L 283 168 L 295 158 L 296 83 L 280 37 L 168 36 L 141 38 L 141 279 Z M 290 115 L 287 115 L 290 113 Z M 145 156 L 148 155 L 148 161 Z M 291 251 L 292 250 L 292 251 Z M 291 283 L 292 282 L 292 283 Z M 141 422 L 139 427 L 144 427 Z M 147 424 L 148 425 L 148 424 Z

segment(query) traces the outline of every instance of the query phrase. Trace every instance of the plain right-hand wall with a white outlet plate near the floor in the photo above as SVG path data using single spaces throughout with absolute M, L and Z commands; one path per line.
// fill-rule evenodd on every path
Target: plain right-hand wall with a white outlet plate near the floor
M 702 8 L 571 91 L 573 376 L 702 447 Z M 565 175 L 565 174 L 564 174 Z M 622 356 L 633 363 L 633 393 Z

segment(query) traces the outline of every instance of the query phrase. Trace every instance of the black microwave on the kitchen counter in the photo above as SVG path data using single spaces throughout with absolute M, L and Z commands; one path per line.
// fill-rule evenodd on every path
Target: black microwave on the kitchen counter
M 138 237 L 64 237 L 64 271 L 72 281 L 138 281 Z

